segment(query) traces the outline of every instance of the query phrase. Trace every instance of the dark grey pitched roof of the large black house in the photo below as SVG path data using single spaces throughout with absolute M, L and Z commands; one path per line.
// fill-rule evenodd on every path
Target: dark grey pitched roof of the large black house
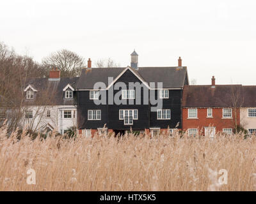
M 108 87 L 108 77 L 113 77 L 115 80 L 124 69 L 126 68 L 83 69 L 76 88 L 93 89 L 93 85 L 97 82 L 104 82 Z M 132 70 L 148 84 L 149 82 L 163 82 L 163 88 L 170 89 L 184 87 L 187 76 L 186 67 L 141 67 Z

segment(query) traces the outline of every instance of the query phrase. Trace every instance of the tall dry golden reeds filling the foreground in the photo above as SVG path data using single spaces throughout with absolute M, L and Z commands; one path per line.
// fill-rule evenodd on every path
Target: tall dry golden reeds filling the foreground
M 54 133 L 53 133 L 54 135 Z M 6 137 L 0 129 L 0 191 L 254 191 L 256 138 Z M 29 168 L 36 184 L 28 185 Z M 228 183 L 218 184 L 218 171 Z

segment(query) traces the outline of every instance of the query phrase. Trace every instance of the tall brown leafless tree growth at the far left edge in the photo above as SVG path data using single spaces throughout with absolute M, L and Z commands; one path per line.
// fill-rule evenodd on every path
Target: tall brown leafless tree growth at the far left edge
M 8 131 L 19 128 L 25 98 L 22 90 L 28 78 L 40 77 L 40 70 L 31 57 L 17 55 L 0 42 L 0 108 L 2 119 L 8 118 Z

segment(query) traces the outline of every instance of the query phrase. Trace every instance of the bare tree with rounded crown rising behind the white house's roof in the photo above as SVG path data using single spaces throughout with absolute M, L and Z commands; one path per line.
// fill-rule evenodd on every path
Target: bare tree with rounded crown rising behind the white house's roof
M 45 76 L 52 68 L 61 70 L 61 77 L 78 77 L 85 67 L 84 58 L 70 50 L 53 52 L 42 60 Z

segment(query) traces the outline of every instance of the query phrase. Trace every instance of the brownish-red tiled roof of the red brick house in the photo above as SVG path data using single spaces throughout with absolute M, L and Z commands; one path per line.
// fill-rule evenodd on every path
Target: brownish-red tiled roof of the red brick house
M 185 85 L 182 107 L 239 107 L 243 105 L 242 85 Z

